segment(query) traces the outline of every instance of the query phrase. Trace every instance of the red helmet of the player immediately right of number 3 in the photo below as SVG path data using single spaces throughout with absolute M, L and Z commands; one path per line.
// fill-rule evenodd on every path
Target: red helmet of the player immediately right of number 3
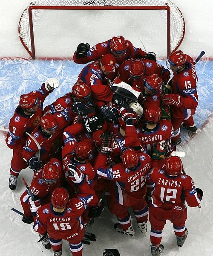
M 55 134 L 58 129 L 58 121 L 54 115 L 46 114 L 41 117 L 40 126 L 46 134 Z

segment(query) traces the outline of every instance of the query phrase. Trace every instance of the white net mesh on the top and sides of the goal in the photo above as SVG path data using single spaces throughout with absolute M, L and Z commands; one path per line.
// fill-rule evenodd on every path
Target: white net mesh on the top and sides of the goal
M 179 9 L 170 0 L 37 0 L 30 6 L 169 6 L 171 11 L 170 17 L 170 46 L 171 52 L 178 47 L 184 36 L 184 18 Z M 19 36 L 23 45 L 32 52 L 29 26 L 29 13 L 27 7 L 20 19 Z M 167 13 L 159 10 L 165 24 L 167 24 Z M 36 9 L 32 12 L 33 29 L 35 32 L 36 25 L 43 14 L 43 10 Z

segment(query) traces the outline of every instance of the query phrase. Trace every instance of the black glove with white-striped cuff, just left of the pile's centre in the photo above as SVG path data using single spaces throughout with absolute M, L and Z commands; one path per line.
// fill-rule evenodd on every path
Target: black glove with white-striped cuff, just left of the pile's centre
M 84 131 L 93 132 L 102 128 L 104 124 L 103 116 L 94 115 L 89 118 L 85 118 L 82 120 L 82 126 Z

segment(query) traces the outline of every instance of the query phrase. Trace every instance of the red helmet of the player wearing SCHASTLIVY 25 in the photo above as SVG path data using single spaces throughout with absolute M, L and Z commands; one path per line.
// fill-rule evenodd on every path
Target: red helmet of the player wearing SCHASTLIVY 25
M 121 160 L 124 166 L 134 169 L 138 165 L 138 154 L 133 148 L 124 149 L 121 153 Z

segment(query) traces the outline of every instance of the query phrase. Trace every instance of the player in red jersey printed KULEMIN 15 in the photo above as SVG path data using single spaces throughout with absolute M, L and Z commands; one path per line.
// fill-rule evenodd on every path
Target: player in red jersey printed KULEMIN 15
M 68 191 L 57 188 L 52 192 L 51 203 L 37 210 L 34 230 L 49 234 L 54 256 L 62 255 L 62 239 L 69 242 L 72 256 L 82 256 L 84 226 L 81 219 L 83 211 L 93 199 L 92 190 L 83 182 L 83 173 L 78 170 L 69 172 L 75 184 L 78 184 L 80 194 L 69 199 Z

